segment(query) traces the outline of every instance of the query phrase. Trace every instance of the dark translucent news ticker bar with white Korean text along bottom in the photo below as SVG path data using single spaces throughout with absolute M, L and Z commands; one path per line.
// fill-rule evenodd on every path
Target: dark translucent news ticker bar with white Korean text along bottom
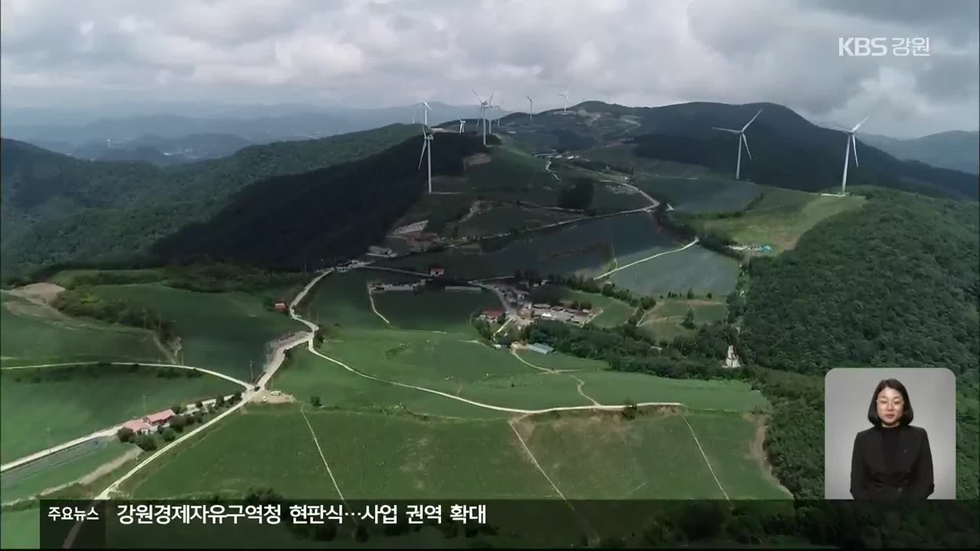
M 823 515 L 813 517 L 814 509 Z M 925 517 L 919 515 L 923 512 Z M 980 544 L 980 529 L 969 527 L 980 518 L 976 500 L 918 504 L 826 500 L 41 500 L 38 508 L 42 548 L 145 547 L 160 538 L 167 538 L 172 548 L 288 548 L 300 539 L 334 537 L 350 541 L 358 537 L 392 538 L 386 541 L 397 545 L 399 541 L 414 541 L 400 540 L 400 536 L 412 537 L 415 531 L 430 529 L 442 531 L 446 538 L 492 541 L 495 547 L 567 547 L 597 537 L 628 537 L 651 526 L 654 519 L 670 526 L 706 526 L 731 524 L 732 519 L 747 513 L 759 519 L 779 519 L 777 525 L 783 526 L 780 529 L 786 534 L 804 539 L 812 533 L 810 524 L 823 526 L 823 521 L 814 519 L 851 518 L 854 526 L 888 529 L 886 526 L 898 518 L 924 523 L 922 529 L 935 532 L 937 538 L 956 531 L 964 541 Z

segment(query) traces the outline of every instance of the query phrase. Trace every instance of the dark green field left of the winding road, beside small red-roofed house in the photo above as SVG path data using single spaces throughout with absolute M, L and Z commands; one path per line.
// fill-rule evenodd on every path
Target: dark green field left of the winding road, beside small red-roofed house
M 96 285 L 92 292 L 152 309 L 170 320 L 180 336 L 188 366 L 207 368 L 242 380 L 266 361 L 266 344 L 285 333 L 306 330 L 288 316 L 266 310 L 246 293 L 201 293 L 158 284 Z

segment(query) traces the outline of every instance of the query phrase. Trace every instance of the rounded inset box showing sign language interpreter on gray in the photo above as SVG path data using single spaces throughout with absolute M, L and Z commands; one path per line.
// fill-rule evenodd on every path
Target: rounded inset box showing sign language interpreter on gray
M 956 376 L 834 369 L 824 378 L 826 499 L 956 499 Z

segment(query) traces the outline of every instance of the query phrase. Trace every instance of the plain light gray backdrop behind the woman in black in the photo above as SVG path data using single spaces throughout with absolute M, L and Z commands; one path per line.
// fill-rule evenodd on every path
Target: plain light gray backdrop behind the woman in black
M 824 378 L 824 497 L 851 495 L 851 454 L 855 435 L 865 428 L 874 387 L 883 378 L 906 385 L 912 426 L 929 433 L 936 490 L 929 499 L 956 499 L 956 376 L 947 369 L 842 369 Z

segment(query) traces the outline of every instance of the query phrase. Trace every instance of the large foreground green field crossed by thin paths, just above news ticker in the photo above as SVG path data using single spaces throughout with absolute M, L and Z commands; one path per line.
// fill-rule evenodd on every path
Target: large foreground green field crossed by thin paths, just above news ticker
M 706 430 L 698 436 L 709 460 L 728 464 L 712 468 L 722 487 L 732 485 L 732 497 L 778 497 L 751 457 L 750 422 L 687 415 L 696 433 Z M 348 500 L 558 499 L 533 455 L 569 499 L 722 498 L 678 415 L 651 411 L 625 421 L 568 414 L 524 418 L 515 428 L 526 450 L 505 420 L 252 405 L 133 476 L 123 491 L 134 498 L 241 495 L 265 486 L 292 498 L 335 499 L 325 460 Z M 725 446 L 732 451 L 713 455 Z

